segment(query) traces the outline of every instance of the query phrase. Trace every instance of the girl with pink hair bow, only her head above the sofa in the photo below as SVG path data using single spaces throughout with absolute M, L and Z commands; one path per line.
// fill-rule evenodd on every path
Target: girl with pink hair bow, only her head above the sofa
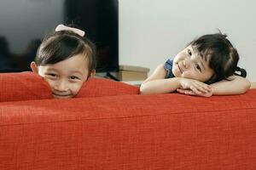
M 96 48 L 84 31 L 59 25 L 44 38 L 31 68 L 49 83 L 55 98 L 73 98 L 95 75 L 95 55 Z

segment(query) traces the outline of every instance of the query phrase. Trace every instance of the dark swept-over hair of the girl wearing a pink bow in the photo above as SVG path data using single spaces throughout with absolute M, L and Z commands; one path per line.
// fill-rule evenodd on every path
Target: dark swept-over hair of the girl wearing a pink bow
M 35 63 L 56 64 L 77 54 L 88 57 L 89 71 L 96 68 L 96 47 L 87 37 L 80 37 L 73 31 L 55 31 L 44 37 L 38 48 Z

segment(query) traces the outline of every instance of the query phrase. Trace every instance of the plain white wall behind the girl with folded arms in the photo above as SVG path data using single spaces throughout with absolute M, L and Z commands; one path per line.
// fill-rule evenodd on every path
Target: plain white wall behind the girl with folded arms
M 195 37 L 226 33 L 241 56 L 239 65 L 256 82 L 256 1 L 119 0 L 119 64 L 150 73 Z

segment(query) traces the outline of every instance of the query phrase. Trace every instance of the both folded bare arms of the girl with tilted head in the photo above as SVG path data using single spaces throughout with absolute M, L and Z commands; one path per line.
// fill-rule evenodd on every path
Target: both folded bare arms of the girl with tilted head
M 177 91 L 180 94 L 210 97 L 212 95 L 244 94 L 251 86 L 246 78 L 239 76 L 232 76 L 229 80 L 207 85 L 204 82 L 183 77 L 166 78 L 166 73 L 164 65 L 159 65 L 154 73 L 142 83 L 141 94 L 167 94 Z

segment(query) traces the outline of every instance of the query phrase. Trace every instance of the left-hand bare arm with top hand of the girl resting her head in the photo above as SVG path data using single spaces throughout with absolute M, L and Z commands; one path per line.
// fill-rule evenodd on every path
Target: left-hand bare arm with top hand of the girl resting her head
M 165 79 L 166 74 L 164 65 L 159 65 L 154 73 L 142 83 L 141 94 L 167 94 L 176 91 L 177 88 L 190 89 L 195 95 L 211 91 L 211 88 L 203 82 L 182 77 Z

